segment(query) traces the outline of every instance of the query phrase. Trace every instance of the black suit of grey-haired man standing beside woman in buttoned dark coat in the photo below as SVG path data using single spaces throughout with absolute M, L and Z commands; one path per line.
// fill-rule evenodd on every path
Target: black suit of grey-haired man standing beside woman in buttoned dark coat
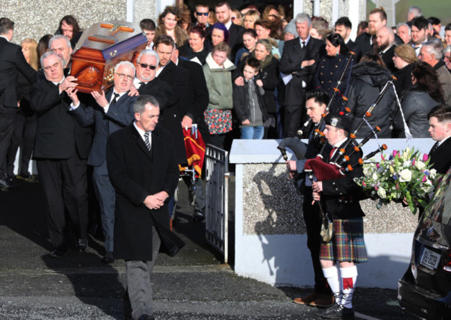
M 300 48 L 299 37 L 285 42 L 282 58 L 280 59 L 280 72 L 293 76 L 285 87 L 285 105 L 296 106 L 303 103 L 305 91 L 309 90 L 310 81 L 316 69 L 316 62 L 324 47 L 325 43 L 323 40 L 314 39 L 313 37 L 310 37 L 304 49 Z M 304 68 L 300 67 L 301 62 L 312 59 L 315 60 L 314 65 Z M 302 85 L 303 81 L 307 85 L 305 88 Z

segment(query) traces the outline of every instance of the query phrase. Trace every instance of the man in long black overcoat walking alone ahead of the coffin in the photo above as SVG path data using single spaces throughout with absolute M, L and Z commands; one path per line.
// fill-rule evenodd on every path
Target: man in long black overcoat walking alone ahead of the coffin
M 135 121 L 108 137 L 108 172 L 116 190 L 114 257 L 126 260 L 133 319 L 151 320 L 152 270 L 158 251 L 175 255 L 185 244 L 171 232 L 167 201 L 176 190 L 178 166 L 171 134 L 157 126 L 153 96 L 139 96 Z

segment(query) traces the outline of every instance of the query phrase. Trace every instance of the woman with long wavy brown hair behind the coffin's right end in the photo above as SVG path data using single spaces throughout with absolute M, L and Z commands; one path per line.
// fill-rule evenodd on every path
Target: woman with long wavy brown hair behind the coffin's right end
M 155 39 L 158 35 L 169 35 L 177 47 L 182 47 L 188 40 L 188 34 L 180 24 L 182 12 L 174 6 L 167 6 L 158 17 L 158 27 L 155 29 Z

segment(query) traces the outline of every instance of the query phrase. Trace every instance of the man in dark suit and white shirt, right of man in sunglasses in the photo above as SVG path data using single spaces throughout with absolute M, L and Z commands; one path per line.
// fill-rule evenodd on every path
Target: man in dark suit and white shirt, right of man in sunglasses
M 235 54 L 243 44 L 243 33 L 246 29 L 232 22 L 232 19 L 230 19 L 232 16 L 232 7 L 230 7 L 227 1 L 217 3 L 215 11 L 218 22 L 224 24 L 229 31 L 228 45 L 231 49 L 230 60 L 235 61 Z

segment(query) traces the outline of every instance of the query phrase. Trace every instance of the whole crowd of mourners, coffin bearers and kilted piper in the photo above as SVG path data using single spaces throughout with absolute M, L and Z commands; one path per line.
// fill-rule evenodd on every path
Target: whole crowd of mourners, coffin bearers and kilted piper
M 306 158 L 313 158 L 320 148 L 309 133 L 330 106 L 319 128 L 333 147 L 323 149 L 326 162 L 357 128 L 357 138 L 371 134 L 375 126 L 380 127 L 378 137 L 410 133 L 432 136 L 441 144 L 451 135 L 451 24 L 445 26 L 442 39 L 440 20 L 426 19 L 417 7 L 409 9 L 405 23 L 386 24 L 386 12 L 375 8 L 352 41 L 348 17 L 332 25 L 305 13 L 291 17 L 283 6 L 246 5 L 237 10 L 223 1 L 212 8 L 197 3 L 194 12 L 186 5 L 167 6 L 157 24 L 152 19 L 139 23 L 147 44 L 135 65 L 119 62 L 108 92 L 83 94 L 69 75 L 71 53 L 83 33 L 74 17 L 63 17 L 56 35 L 44 35 L 38 42 L 27 38 L 20 46 L 11 42 L 14 22 L 2 17 L 0 187 L 6 190 L 14 183 L 19 146 L 19 176 L 37 180 L 28 171 L 33 154 L 54 258 L 67 253 L 69 233 L 76 238 L 76 251 L 85 251 L 92 187 L 105 236 L 102 261 L 128 260 L 130 317 L 153 319 L 151 305 L 139 303 L 140 291 L 151 297 L 150 282 L 140 286 L 137 279 L 151 274 L 160 245 L 173 255 L 183 244 L 167 228 L 169 218 L 149 221 L 142 208 L 171 211 L 174 168 L 187 165 L 183 130 L 196 124 L 205 144 L 226 150 L 240 138 L 307 137 Z M 369 106 L 390 81 L 393 88 L 384 92 L 361 126 Z M 140 152 L 130 145 L 135 140 L 146 157 L 130 157 Z M 167 156 L 166 162 L 161 155 Z M 165 163 L 153 168 L 157 162 Z M 152 167 L 146 178 L 135 171 L 142 164 Z M 303 163 L 287 165 L 302 174 Z M 353 317 L 355 263 L 367 260 L 364 214 L 351 196 L 352 177 L 359 174 L 355 170 L 338 182 L 318 181 L 302 188 L 315 290 L 295 302 L 332 305 L 321 312 L 326 318 Z M 194 221 L 205 217 L 201 179 L 196 187 Z M 310 203 L 320 201 L 320 194 L 334 208 L 334 230 L 339 228 L 337 234 L 343 238 L 339 244 L 318 239 L 321 215 Z M 124 210 L 132 209 L 138 218 L 130 222 Z M 142 230 L 143 246 L 130 234 L 146 226 L 150 227 Z

